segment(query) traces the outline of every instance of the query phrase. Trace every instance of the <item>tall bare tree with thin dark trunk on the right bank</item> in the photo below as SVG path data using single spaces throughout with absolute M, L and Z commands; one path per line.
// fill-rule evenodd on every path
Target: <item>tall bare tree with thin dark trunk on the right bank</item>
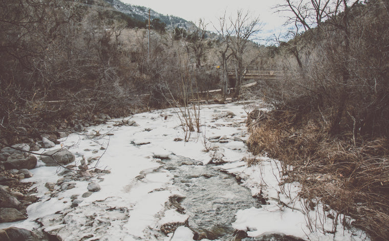
M 350 19 L 352 18 L 352 9 L 358 5 L 360 0 L 285 0 L 285 4 L 279 5 L 279 11 L 288 11 L 292 13 L 292 17 L 287 23 L 293 23 L 296 31 L 302 26 L 304 30 L 315 31 L 316 36 L 329 36 L 331 33 L 340 34 L 341 38 L 336 43 L 337 56 L 333 61 L 337 61 L 336 65 L 339 70 L 341 79 L 338 81 L 339 95 L 335 114 L 332 118 L 331 133 L 339 134 L 340 121 L 345 111 L 346 102 L 349 96 L 348 85 L 350 84 L 350 42 L 351 29 Z M 313 30 L 313 28 L 315 28 Z M 329 48 L 326 48 L 329 49 Z M 294 49 L 296 52 L 296 49 Z M 334 49 L 333 49 L 334 50 Z M 295 54 L 299 60 L 298 52 Z M 335 57 L 335 56 L 333 56 Z M 300 66 L 302 64 L 299 63 Z

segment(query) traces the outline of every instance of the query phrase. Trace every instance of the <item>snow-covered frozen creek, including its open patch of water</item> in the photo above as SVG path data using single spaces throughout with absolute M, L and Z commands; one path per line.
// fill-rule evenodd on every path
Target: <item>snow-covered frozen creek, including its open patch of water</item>
M 246 165 L 245 109 L 203 106 L 203 132 L 192 132 L 187 143 L 177 141 L 184 138 L 177 109 L 125 118 L 137 125 L 114 119 L 71 134 L 60 141 L 76 155 L 75 165 L 92 159 L 90 166 L 111 173 L 70 180 L 74 188 L 52 195 L 45 184 L 57 183 L 63 170 L 39 161 L 25 179 L 36 183 L 39 202 L 28 207 L 27 220 L 0 228 L 44 230 L 59 240 L 369 240 L 327 218 L 331 210 L 305 210 L 298 183 L 278 186 L 277 160 L 257 157 L 260 165 Z M 83 197 L 90 182 L 101 190 Z

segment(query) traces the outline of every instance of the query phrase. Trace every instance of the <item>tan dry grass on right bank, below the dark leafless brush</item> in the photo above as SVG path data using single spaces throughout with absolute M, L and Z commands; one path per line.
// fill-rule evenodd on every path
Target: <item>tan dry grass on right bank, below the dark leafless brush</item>
M 352 134 L 328 134 L 320 114 L 297 111 L 261 112 L 248 118 L 248 147 L 254 154 L 278 158 L 300 195 L 319 198 L 374 240 L 389 237 L 389 140 L 375 138 L 354 145 Z

